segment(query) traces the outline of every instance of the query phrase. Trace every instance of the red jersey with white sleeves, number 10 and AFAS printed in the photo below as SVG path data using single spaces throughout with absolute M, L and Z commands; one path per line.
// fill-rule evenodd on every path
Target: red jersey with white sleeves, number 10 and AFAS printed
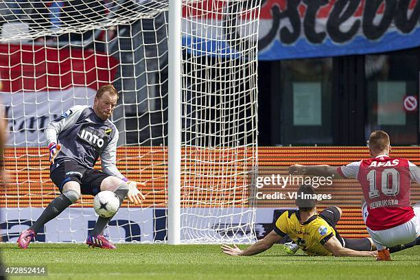
M 345 178 L 355 178 L 362 186 L 368 207 L 366 226 L 373 231 L 390 229 L 411 220 L 411 181 L 420 183 L 419 168 L 406 159 L 384 154 L 338 167 Z

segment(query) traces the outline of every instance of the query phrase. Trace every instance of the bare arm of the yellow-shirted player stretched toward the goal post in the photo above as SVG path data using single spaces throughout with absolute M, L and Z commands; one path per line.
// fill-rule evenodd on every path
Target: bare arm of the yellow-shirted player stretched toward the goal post
M 236 245 L 233 245 L 233 247 L 228 245 L 222 245 L 220 248 L 222 248 L 223 253 L 227 255 L 232 256 L 252 256 L 257 255 L 259 253 L 264 252 L 265 250 L 268 250 L 271 248 L 274 244 L 279 242 L 283 237 L 278 235 L 275 231 L 271 231 L 264 237 L 262 240 L 259 240 L 255 242 L 253 245 L 249 246 L 245 250 L 241 250 L 240 248 L 237 248 Z

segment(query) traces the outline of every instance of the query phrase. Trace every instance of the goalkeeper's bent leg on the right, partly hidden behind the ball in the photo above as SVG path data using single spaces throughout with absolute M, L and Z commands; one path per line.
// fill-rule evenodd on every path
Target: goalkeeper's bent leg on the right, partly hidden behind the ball
M 119 199 L 119 206 L 121 206 L 124 198 L 126 198 L 128 194 L 128 185 L 117 177 L 109 176 L 102 181 L 101 191 L 113 191 Z M 95 227 L 86 239 L 86 244 L 93 247 L 115 249 L 115 245 L 111 244 L 103 236 L 104 229 L 112 218 L 113 216 L 109 218 L 98 217 Z

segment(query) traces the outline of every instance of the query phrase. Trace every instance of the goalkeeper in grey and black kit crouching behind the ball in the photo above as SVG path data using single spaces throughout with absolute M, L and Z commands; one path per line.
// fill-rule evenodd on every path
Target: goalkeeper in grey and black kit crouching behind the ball
M 95 196 L 100 191 L 113 191 L 119 198 L 120 206 L 126 197 L 135 205 L 145 199 L 137 189 L 144 184 L 130 182 L 115 165 L 118 130 L 108 118 L 117 100 L 118 91 L 114 86 L 101 86 L 92 107 L 73 106 L 45 128 L 51 163 L 50 178 L 61 195 L 49 203 L 29 229 L 21 233 L 17 241 L 21 248 L 27 248 L 40 227 L 75 203 L 81 194 Z M 93 169 L 99 157 L 102 171 Z M 116 248 L 103 236 L 111 218 L 97 219 L 86 244 Z

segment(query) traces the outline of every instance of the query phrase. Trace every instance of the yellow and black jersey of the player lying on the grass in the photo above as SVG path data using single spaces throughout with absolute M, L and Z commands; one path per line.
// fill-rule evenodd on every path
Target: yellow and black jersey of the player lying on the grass
M 299 211 L 285 211 L 277 219 L 274 231 L 285 236 L 286 234 L 308 255 L 332 255 L 323 247 L 336 230 L 330 226 L 320 215 L 313 215 L 306 222 L 300 222 Z

